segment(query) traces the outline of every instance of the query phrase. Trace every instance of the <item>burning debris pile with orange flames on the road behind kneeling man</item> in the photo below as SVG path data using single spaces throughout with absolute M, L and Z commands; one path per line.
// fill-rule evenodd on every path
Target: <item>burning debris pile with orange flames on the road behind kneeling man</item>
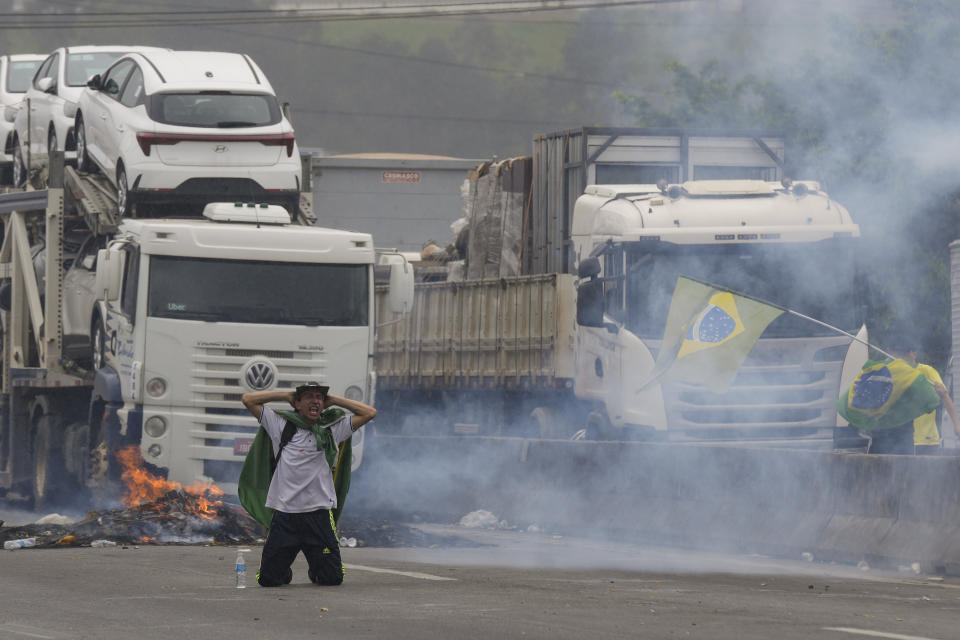
M 222 544 L 262 542 L 265 530 L 236 504 L 223 501 L 214 484 L 184 487 L 156 476 L 143 466 L 137 447 L 117 453 L 124 483 L 123 507 L 90 511 L 77 522 L 45 516 L 34 524 L 3 527 L 0 542 L 34 538 L 24 546 L 90 546 L 103 541 L 118 545 Z M 383 518 L 356 514 L 344 517 L 340 533 L 356 538 L 357 546 L 462 546 L 452 536 L 436 536 Z M 97 546 L 104 546 L 99 544 Z

